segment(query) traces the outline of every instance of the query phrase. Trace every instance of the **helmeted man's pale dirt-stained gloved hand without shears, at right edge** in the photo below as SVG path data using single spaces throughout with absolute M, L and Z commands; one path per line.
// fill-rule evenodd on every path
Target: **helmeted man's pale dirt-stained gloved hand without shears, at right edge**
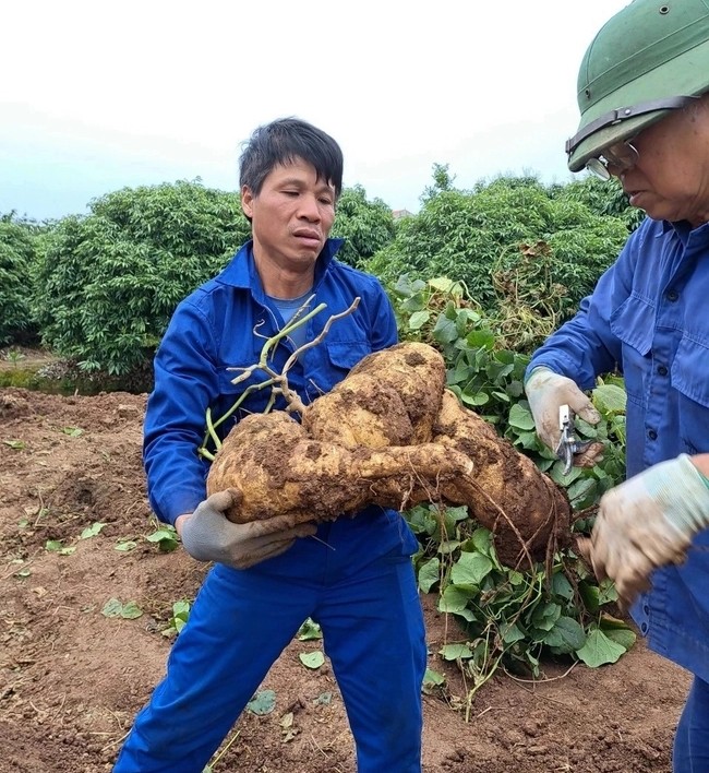
M 649 587 L 653 569 L 685 560 L 692 537 L 707 525 L 709 487 L 682 454 L 604 493 L 591 538 L 579 540 L 579 549 L 629 605 Z

